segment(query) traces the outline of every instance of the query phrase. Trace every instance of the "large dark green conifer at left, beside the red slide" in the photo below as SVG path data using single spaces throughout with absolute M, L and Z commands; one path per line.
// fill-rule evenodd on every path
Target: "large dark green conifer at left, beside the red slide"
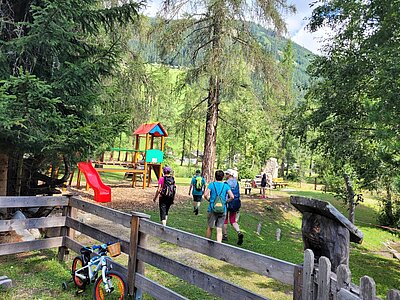
M 124 122 L 99 106 L 101 79 L 115 70 L 120 49 L 107 34 L 139 9 L 124 3 L 0 2 L 0 145 L 9 195 L 52 193 L 68 163 L 61 180 L 44 176 L 49 164 L 86 159 Z

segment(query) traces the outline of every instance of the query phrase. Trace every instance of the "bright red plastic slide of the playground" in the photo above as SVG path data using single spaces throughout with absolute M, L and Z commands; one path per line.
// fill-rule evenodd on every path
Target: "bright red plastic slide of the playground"
M 101 181 L 99 173 L 91 162 L 79 162 L 79 170 L 85 175 L 86 182 L 94 190 L 94 200 L 97 202 L 111 202 L 111 188 Z

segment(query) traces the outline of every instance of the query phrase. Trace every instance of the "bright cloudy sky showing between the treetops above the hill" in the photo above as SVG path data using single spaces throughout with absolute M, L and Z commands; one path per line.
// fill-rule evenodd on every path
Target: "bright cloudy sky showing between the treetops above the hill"
M 160 7 L 161 0 L 149 0 L 145 9 L 145 14 L 155 16 Z M 289 4 L 296 6 L 297 12 L 293 15 L 285 16 L 289 36 L 293 42 L 303 46 L 315 54 L 322 54 L 322 37 L 327 33 L 321 29 L 316 33 L 310 33 L 306 26 L 311 17 L 312 8 L 310 3 L 315 0 L 289 0 Z

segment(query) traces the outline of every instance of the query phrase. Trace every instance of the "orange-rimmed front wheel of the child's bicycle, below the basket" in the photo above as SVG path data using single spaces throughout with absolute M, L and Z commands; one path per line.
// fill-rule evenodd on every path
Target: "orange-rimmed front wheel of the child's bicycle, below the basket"
M 100 275 L 100 274 L 99 274 Z M 126 283 L 125 276 L 115 271 L 109 271 L 107 273 L 107 284 L 110 288 L 109 291 L 103 283 L 103 278 L 100 275 L 94 284 L 94 299 L 125 299 L 128 294 L 128 285 Z

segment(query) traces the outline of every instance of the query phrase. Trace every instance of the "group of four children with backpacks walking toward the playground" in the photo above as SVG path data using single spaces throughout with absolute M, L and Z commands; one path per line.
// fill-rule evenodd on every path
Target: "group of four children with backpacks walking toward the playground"
M 169 208 L 174 200 L 176 186 L 175 180 L 171 176 L 171 168 L 165 167 L 163 173 L 164 176 L 160 177 L 158 181 L 158 189 L 153 201 L 155 202 L 159 196 L 160 219 L 165 226 Z M 219 243 L 228 240 L 229 222 L 237 233 L 237 244 L 243 244 L 243 233 L 238 224 L 241 201 L 237 175 L 237 171 L 233 169 L 225 172 L 218 170 L 215 172 L 215 181 L 207 185 L 200 170 L 197 170 L 190 183 L 189 195 L 193 196 L 193 213 L 198 215 L 203 198 L 209 202 L 206 237 L 211 238 L 212 231 L 216 228 L 217 242 Z

